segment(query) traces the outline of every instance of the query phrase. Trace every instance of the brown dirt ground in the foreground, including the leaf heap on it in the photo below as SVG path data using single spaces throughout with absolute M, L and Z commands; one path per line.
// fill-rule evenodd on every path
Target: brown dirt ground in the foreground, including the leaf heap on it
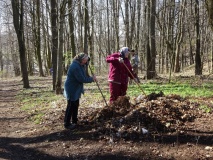
M 29 121 L 15 99 L 20 89 L 20 80 L 1 80 L 0 159 L 213 159 L 212 112 L 176 95 L 149 95 L 134 105 L 123 97 L 108 109 L 80 107 L 79 126 L 70 131 L 63 128 L 65 106 L 48 110 L 42 124 Z M 213 97 L 199 101 L 212 107 Z

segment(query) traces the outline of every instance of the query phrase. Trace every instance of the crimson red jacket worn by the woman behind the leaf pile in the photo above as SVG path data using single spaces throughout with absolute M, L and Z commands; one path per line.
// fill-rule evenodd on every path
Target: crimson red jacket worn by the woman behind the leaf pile
M 129 73 L 127 68 L 124 66 L 123 63 L 120 63 L 118 61 L 119 57 L 121 57 L 121 53 L 113 53 L 109 56 L 107 56 L 106 61 L 107 63 L 110 63 L 109 66 L 109 76 L 108 81 L 119 83 L 119 84 L 127 84 L 128 83 L 128 77 L 134 76 L 134 73 L 132 72 L 132 66 L 130 64 L 130 61 L 128 58 L 124 58 L 124 64 L 127 66 L 129 71 L 132 73 L 132 75 Z

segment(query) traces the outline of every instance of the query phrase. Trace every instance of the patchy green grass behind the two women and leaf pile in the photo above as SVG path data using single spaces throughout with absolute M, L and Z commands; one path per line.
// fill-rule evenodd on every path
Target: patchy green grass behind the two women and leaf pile
M 53 103 L 60 102 L 64 109 L 66 106 L 66 100 L 63 95 L 56 95 L 52 91 L 50 82 L 37 80 L 32 88 L 22 89 L 17 95 L 17 101 L 21 105 L 21 109 L 29 113 L 29 119 L 35 123 L 40 123 L 42 117 L 46 113 L 46 110 L 53 107 Z M 109 88 L 106 81 L 102 83 L 85 84 L 85 94 L 82 95 L 82 106 L 104 103 L 105 100 L 109 101 Z M 140 87 L 139 87 L 140 86 Z M 127 96 L 135 98 L 139 95 L 149 95 L 150 93 L 163 92 L 164 95 L 176 94 L 181 97 L 211 97 L 213 96 L 213 84 L 203 83 L 202 85 L 194 85 L 191 83 L 173 82 L 173 83 L 160 83 L 160 82 L 147 82 L 137 84 L 131 84 L 128 86 Z M 102 94 L 101 94 L 102 93 Z M 58 104 L 57 104 L 58 105 Z M 208 106 L 202 106 L 203 110 L 209 112 Z

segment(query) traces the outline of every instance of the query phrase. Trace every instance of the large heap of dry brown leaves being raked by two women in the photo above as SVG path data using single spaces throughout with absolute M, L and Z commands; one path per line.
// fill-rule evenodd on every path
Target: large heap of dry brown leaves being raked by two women
M 130 102 L 123 96 L 104 108 L 87 114 L 87 124 L 100 138 L 139 139 L 159 133 L 184 133 L 186 122 L 193 122 L 203 114 L 199 104 L 178 95 L 162 92 L 138 96 Z

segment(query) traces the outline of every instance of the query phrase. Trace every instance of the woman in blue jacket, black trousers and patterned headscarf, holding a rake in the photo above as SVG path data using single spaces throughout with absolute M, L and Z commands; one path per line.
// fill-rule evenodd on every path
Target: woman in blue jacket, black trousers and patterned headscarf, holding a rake
M 88 55 L 80 53 L 76 55 L 68 69 L 67 78 L 64 83 L 64 96 L 67 99 L 67 108 L 64 117 L 64 127 L 74 129 L 78 121 L 78 107 L 81 94 L 84 93 L 84 83 L 96 81 L 96 77 L 86 75 L 85 65 Z M 72 119 L 72 123 L 71 123 Z

